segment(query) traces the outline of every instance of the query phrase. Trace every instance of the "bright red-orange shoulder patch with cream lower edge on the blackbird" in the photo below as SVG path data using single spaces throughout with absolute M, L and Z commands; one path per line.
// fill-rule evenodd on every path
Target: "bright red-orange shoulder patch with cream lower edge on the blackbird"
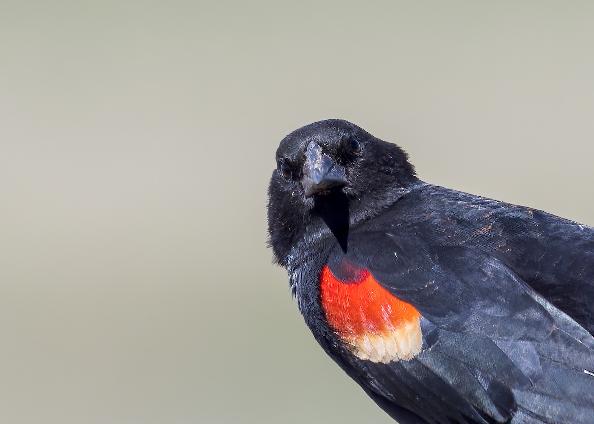
M 324 267 L 320 296 L 328 324 L 360 359 L 388 363 L 421 352 L 419 312 L 388 293 L 369 271 L 345 282 Z

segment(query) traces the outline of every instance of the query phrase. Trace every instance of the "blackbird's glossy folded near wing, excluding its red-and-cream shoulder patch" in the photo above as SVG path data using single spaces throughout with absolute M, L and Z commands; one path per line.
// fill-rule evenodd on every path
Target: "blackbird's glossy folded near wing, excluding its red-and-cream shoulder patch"
M 407 225 L 389 215 L 353 230 L 349 251 L 328 262 L 336 275 L 345 263 L 368 270 L 421 315 L 423 347 L 413 359 L 351 359 L 365 390 L 388 412 L 393 403 L 394 417 L 403 407 L 431 423 L 593 423 L 592 335 L 536 293 L 504 254 L 484 249 L 497 238 L 473 242 L 463 236 L 473 230 L 450 219 L 455 230 L 440 239 L 435 226 L 424 233 L 428 221 Z M 508 237 L 500 248 L 522 243 Z

